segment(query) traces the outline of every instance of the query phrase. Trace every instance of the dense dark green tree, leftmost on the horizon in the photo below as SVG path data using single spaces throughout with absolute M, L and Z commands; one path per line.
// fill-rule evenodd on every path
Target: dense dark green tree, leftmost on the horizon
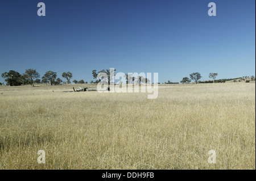
M 10 86 L 20 86 L 22 82 L 20 81 L 20 73 L 18 71 L 10 70 L 9 72 L 2 73 L 2 78 L 5 78 L 5 82 Z

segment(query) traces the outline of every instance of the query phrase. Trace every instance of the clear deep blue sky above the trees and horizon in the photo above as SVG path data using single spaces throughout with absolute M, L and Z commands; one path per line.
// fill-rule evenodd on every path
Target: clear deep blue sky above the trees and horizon
M 46 16 L 38 16 L 38 3 Z M 217 16 L 208 16 L 215 2 Z M 1 0 L 0 73 L 158 72 L 180 82 L 255 75 L 255 0 Z M 0 82 L 3 78 L 0 77 Z

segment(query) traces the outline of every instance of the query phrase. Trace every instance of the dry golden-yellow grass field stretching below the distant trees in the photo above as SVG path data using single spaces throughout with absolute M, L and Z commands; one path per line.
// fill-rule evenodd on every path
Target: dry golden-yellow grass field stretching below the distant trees
M 255 83 L 63 90 L 0 87 L 0 169 L 255 169 Z

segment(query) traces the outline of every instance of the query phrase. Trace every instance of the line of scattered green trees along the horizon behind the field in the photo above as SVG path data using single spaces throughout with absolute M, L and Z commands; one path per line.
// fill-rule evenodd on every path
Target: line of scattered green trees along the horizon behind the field
M 116 71 L 116 70 L 115 70 Z M 103 69 L 97 72 L 97 70 L 92 70 L 92 75 L 93 75 L 93 79 L 97 79 L 95 82 L 90 81 L 90 83 L 98 83 L 100 81 L 102 81 L 102 78 L 98 79 L 98 74 L 100 73 L 106 73 L 108 75 L 108 82 L 110 83 L 110 81 L 112 81 L 110 79 L 110 70 L 109 69 Z M 213 79 L 213 81 L 200 81 L 200 79 L 202 78 L 201 74 L 199 72 L 196 73 L 192 73 L 189 74 L 189 78 L 188 77 L 183 77 L 183 79 L 180 81 L 180 83 L 190 83 L 192 80 L 195 81 L 195 83 L 225 83 L 226 81 L 230 81 L 230 80 L 234 80 L 236 81 L 236 79 L 220 79 L 220 80 L 216 80 L 217 77 L 217 73 L 209 73 L 209 78 Z M 47 71 L 42 79 L 40 78 L 40 74 L 38 73 L 38 71 L 36 71 L 36 69 L 26 69 L 25 73 L 20 74 L 18 73 L 18 71 L 14 71 L 14 70 L 10 70 L 9 72 L 5 72 L 2 73 L 1 75 L 4 79 L 6 85 L 10 85 L 10 86 L 20 86 L 20 85 L 26 85 L 26 84 L 30 84 L 31 86 L 34 87 L 34 83 L 49 83 L 51 85 L 60 85 L 61 83 L 71 83 L 71 78 L 73 77 L 73 74 L 68 71 L 68 72 L 64 72 L 62 74 L 62 77 L 65 78 L 67 80 L 67 82 L 63 82 L 60 78 L 57 78 L 57 73 L 55 71 Z M 125 78 L 126 78 L 126 83 L 133 83 L 134 81 L 137 81 L 138 83 L 150 83 L 150 80 L 147 78 L 142 77 L 141 75 L 139 75 L 138 77 L 129 77 L 131 75 L 125 74 Z M 246 78 L 251 78 L 251 81 L 255 81 L 255 77 L 254 76 L 245 76 L 243 78 L 240 79 L 240 81 L 242 81 L 243 79 Z M 130 82 L 129 82 L 130 81 Z M 239 82 L 240 82 L 239 81 Z M 88 83 L 85 82 L 83 79 L 81 79 L 80 81 L 77 81 L 76 79 L 73 80 L 73 83 Z M 179 84 L 179 82 L 164 82 L 165 84 Z M 0 86 L 3 85 L 3 83 L 0 83 Z

